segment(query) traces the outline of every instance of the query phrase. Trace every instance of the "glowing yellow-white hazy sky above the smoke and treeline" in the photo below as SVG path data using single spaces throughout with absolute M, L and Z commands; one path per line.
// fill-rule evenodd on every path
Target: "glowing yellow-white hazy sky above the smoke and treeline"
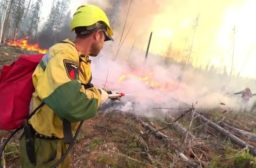
M 44 21 L 50 12 L 53 0 L 43 0 L 42 16 Z M 71 13 L 78 6 L 90 0 L 71 0 Z M 91 0 L 103 10 L 111 0 Z M 127 16 L 129 0 L 123 0 L 121 6 L 121 27 L 115 30 L 118 44 Z M 256 73 L 256 0 L 132 0 L 127 19 L 127 27 L 132 29 L 127 36 L 121 52 L 128 52 L 135 46 L 146 49 L 150 32 L 153 32 L 149 52 L 164 55 L 170 43 L 172 53 L 169 56 L 179 61 L 188 61 L 190 49 L 194 66 L 226 67 L 241 75 Z M 141 11 L 143 7 L 143 11 Z M 192 29 L 194 19 L 200 14 L 196 32 Z M 41 22 L 41 24 L 44 23 Z M 235 26 L 235 36 L 232 29 Z M 235 37 L 235 38 L 234 38 Z M 235 40 L 234 55 L 232 55 Z M 127 54 L 127 53 L 125 53 Z M 123 53 L 123 55 L 125 55 Z M 121 53 L 120 53 L 121 55 Z M 232 61 L 233 60 L 233 61 Z M 233 62 L 233 64 L 232 64 Z

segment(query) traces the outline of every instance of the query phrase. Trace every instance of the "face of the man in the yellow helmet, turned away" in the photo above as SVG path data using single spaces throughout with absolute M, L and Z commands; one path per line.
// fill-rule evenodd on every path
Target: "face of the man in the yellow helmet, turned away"
M 104 41 L 105 41 L 105 33 L 103 31 L 96 32 L 95 34 L 95 41 L 91 45 L 91 54 L 90 56 L 96 57 L 99 55 L 100 50 L 103 48 Z

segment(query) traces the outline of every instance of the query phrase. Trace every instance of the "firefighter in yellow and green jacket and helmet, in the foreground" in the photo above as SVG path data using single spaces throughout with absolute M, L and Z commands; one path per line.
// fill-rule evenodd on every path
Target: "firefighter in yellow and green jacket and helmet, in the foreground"
M 22 168 L 53 166 L 72 140 L 68 133 L 77 130 L 80 121 L 93 118 L 108 94 L 117 93 L 90 83 L 89 55 L 96 57 L 105 41 L 113 41 L 105 12 L 94 5 L 79 6 L 71 20 L 71 31 L 77 35 L 75 41 L 65 39 L 51 46 L 32 75 L 35 92 L 30 113 L 42 102 L 45 104 L 28 120 L 31 131 L 24 128 L 21 136 Z M 27 133 L 33 137 L 32 145 L 27 143 Z M 66 156 L 58 168 L 68 167 L 70 160 Z

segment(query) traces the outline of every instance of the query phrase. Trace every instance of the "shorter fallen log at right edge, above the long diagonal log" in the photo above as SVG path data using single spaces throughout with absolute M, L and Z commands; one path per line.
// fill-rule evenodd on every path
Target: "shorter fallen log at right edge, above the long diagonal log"
M 235 127 L 232 127 L 231 125 L 228 125 L 224 122 L 220 122 L 220 121 L 214 121 L 216 124 L 220 125 L 221 127 L 227 127 L 227 129 L 232 130 L 235 134 L 242 136 L 242 137 L 246 137 L 248 140 L 250 140 L 251 142 L 256 142 L 256 135 L 254 133 L 250 133 L 247 132 L 245 130 L 241 130 Z M 224 128 L 225 129 L 225 128 Z

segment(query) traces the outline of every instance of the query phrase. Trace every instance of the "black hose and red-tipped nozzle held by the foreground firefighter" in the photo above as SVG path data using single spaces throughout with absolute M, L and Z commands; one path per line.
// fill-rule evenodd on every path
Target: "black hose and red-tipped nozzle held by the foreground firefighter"
M 113 97 L 123 97 L 123 96 L 125 96 L 124 93 L 109 94 L 109 98 L 113 98 Z M 73 138 L 74 142 L 75 142 L 76 139 L 77 139 L 78 133 L 79 133 L 81 127 L 82 127 L 83 122 L 84 122 L 84 121 L 81 121 L 80 124 L 79 124 L 79 126 L 78 126 L 78 128 L 77 128 L 77 131 L 76 131 L 76 133 L 75 133 L 75 135 L 74 135 L 74 138 Z M 5 140 L 5 142 L 3 143 L 3 145 L 2 145 L 1 148 L 0 148 L 0 160 L 1 160 L 1 158 L 2 158 L 3 150 L 4 150 L 4 148 L 6 147 L 7 143 L 9 142 L 9 140 L 12 139 L 12 137 L 13 137 L 19 130 L 21 130 L 22 128 L 23 128 L 23 126 L 20 127 L 20 128 L 17 128 L 17 129 L 16 129 L 15 131 L 13 131 L 13 132 L 8 136 L 8 138 Z M 74 146 L 74 143 L 73 143 L 72 145 L 69 145 L 67 151 L 65 151 L 65 153 L 63 154 L 63 156 L 62 156 L 62 157 L 58 160 L 58 162 L 56 162 L 51 168 L 56 168 L 56 167 L 63 161 L 63 159 L 65 159 L 65 157 L 68 155 L 69 151 L 71 150 L 71 148 L 72 148 L 73 146 Z M 3 168 L 2 164 L 0 164 L 0 168 Z

